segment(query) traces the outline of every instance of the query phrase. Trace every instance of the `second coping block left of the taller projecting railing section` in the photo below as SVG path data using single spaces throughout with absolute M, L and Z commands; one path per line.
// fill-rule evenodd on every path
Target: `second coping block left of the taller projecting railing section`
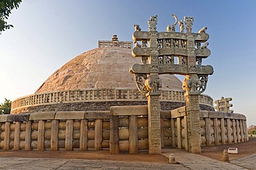
M 84 119 L 85 111 L 57 111 L 56 120 Z

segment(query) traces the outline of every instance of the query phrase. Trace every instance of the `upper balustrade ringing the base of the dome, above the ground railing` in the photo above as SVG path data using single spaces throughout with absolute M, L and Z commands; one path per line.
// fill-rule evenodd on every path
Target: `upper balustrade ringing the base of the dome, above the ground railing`
M 182 91 L 161 91 L 161 101 L 185 102 Z M 59 103 L 80 103 L 98 101 L 141 101 L 147 100 L 144 94 L 138 89 L 109 88 L 109 89 L 79 89 L 60 90 L 40 94 L 31 94 L 12 101 L 12 111 L 23 107 L 33 107 L 39 105 L 54 105 Z M 210 96 L 201 94 L 200 104 L 213 107 L 213 100 Z

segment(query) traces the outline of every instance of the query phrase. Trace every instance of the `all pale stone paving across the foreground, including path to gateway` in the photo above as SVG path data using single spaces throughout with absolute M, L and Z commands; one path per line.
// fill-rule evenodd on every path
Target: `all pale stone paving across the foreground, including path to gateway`
M 228 162 L 214 160 L 179 149 L 163 149 L 167 158 L 174 153 L 179 164 L 120 162 L 56 158 L 0 158 L 0 169 L 256 169 L 256 153 Z

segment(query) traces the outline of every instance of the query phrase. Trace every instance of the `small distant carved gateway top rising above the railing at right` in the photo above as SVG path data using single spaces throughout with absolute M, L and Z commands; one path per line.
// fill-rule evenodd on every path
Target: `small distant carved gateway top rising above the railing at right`
M 214 106 L 214 109 L 216 109 L 216 111 L 221 111 L 224 113 L 233 113 L 234 111 L 230 109 L 230 107 L 232 107 L 233 105 L 229 103 L 231 100 L 232 98 L 223 98 L 222 96 L 220 100 L 214 101 L 214 103 L 216 104 L 216 106 Z

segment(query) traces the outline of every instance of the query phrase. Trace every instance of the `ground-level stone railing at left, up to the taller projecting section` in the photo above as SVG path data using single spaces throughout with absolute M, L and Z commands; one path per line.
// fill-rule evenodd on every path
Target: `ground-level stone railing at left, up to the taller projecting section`
M 6 151 L 109 148 L 109 111 L 1 115 L 0 125 L 0 149 Z

